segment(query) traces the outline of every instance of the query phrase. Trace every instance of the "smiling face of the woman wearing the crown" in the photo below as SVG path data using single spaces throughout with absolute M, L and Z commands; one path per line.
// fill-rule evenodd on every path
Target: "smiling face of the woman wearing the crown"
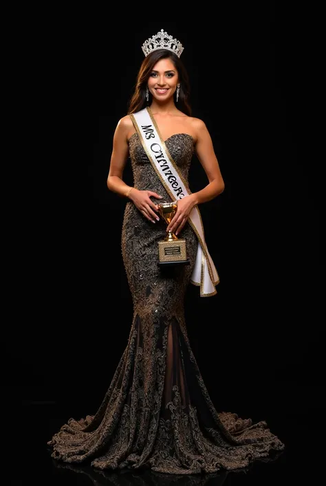
M 147 81 L 149 91 L 157 101 L 166 101 L 173 97 L 177 83 L 177 70 L 169 58 L 157 61 Z

